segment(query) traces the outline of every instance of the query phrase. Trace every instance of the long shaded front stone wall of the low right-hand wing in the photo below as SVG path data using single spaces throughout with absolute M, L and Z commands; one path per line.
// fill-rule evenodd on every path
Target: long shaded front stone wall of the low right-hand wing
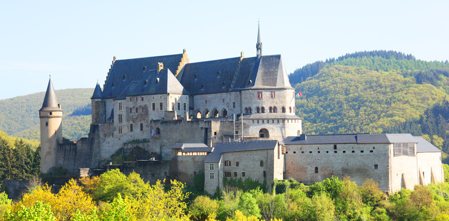
M 332 176 L 350 176 L 361 185 L 372 178 L 381 190 L 390 189 L 389 170 L 394 167 L 389 163 L 388 144 L 337 144 L 337 149 L 333 144 L 286 145 L 286 151 L 286 179 L 310 185 Z

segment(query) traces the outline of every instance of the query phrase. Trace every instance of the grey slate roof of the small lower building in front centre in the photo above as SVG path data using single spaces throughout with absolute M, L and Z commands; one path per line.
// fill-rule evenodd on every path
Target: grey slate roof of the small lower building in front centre
M 226 152 L 269 150 L 276 147 L 277 140 L 254 140 L 249 142 L 216 143 L 214 151 L 206 156 L 205 163 L 218 163 Z

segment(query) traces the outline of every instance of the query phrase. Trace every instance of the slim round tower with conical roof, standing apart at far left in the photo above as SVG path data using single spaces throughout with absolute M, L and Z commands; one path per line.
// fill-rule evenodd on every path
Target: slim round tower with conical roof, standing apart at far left
M 62 109 L 56 98 L 51 79 L 39 110 L 40 172 L 48 173 L 56 167 L 57 144 L 62 142 Z

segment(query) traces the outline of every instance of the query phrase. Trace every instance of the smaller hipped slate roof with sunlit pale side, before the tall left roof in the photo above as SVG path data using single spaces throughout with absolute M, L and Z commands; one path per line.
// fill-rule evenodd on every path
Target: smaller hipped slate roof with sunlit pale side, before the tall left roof
M 187 95 L 188 92 L 179 83 L 178 79 L 169 69 L 159 73 L 152 71 L 136 83 L 136 86 L 126 96 L 156 95 L 156 94 Z

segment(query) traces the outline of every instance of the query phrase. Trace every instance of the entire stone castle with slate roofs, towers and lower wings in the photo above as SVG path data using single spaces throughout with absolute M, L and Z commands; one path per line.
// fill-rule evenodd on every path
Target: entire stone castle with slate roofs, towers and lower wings
M 305 135 L 295 115 L 295 90 L 280 55 L 190 63 L 182 54 L 116 60 L 97 83 L 88 137 L 62 137 L 62 109 L 51 80 L 39 110 L 41 172 L 63 167 L 136 171 L 150 182 L 193 184 L 205 190 L 223 178 L 294 178 L 311 184 L 330 176 L 367 178 L 386 192 L 443 182 L 441 151 L 410 134 Z M 140 147 L 150 159 L 111 165 L 117 151 Z

